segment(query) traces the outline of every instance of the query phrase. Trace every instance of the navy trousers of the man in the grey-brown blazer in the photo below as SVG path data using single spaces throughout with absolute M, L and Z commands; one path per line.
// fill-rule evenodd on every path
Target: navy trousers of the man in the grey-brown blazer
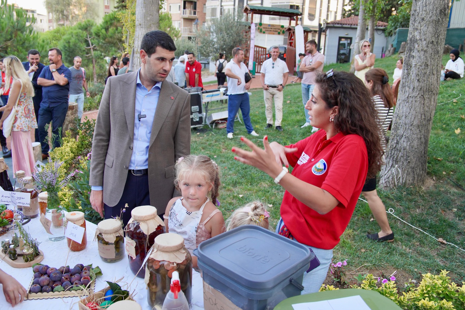
M 121 216 L 121 210 L 128 205 L 126 211 Z M 126 184 L 124 185 L 123 195 L 120 202 L 110 207 L 104 203 L 105 219 L 121 216 L 123 225 L 126 227 L 127 222 L 131 219 L 131 211 L 135 207 L 149 206 L 150 195 L 148 191 L 148 175 L 133 175 L 131 170 L 128 171 Z

